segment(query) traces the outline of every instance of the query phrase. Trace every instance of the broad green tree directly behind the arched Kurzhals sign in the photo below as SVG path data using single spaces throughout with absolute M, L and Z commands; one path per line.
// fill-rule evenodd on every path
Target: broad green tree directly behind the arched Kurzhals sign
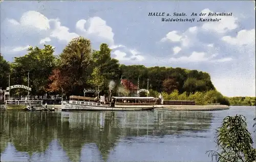
M 45 94 L 48 77 L 55 68 L 54 48 L 51 45 L 44 45 L 42 49 L 30 46 L 28 51 L 27 55 L 14 58 L 11 63 L 11 79 L 15 80 L 16 84 L 27 85 L 29 72 L 31 93 Z

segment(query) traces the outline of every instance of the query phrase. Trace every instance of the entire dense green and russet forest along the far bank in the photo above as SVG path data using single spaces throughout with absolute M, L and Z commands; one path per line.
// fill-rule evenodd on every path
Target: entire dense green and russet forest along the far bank
M 53 46 L 44 45 L 41 49 L 30 46 L 27 55 L 14 58 L 11 63 L 1 56 L 1 87 L 8 87 L 8 73 L 11 85 L 27 85 L 29 72 L 31 95 L 83 95 L 84 88 L 106 93 L 110 81 L 113 80 L 117 86 L 121 77 L 134 84 L 137 84 L 139 78 L 140 88 L 146 88 L 149 78 L 149 89 L 153 96 L 162 92 L 165 100 L 195 100 L 197 104 L 229 105 L 228 98 L 215 89 L 206 72 L 172 67 L 120 65 L 118 60 L 111 58 L 111 49 L 107 44 L 102 43 L 99 50 L 94 50 L 91 41 L 83 37 L 70 41 L 60 55 L 55 56 L 53 53 Z M 14 89 L 11 93 L 27 94 L 23 89 Z

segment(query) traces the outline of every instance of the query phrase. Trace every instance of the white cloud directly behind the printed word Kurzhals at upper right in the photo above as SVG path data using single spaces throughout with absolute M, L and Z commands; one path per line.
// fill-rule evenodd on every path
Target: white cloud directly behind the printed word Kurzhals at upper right
M 213 12 L 213 11 L 210 11 L 209 9 L 204 9 L 201 12 L 206 13 L 206 15 L 203 16 L 202 18 L 221 19 L 218 22 L 217 21 L 204 22 L 201 28 L 205 31 L 223 34 L 238 28 L 238 24 L 237 24 L 238 18 L 234 17 L 233 15 L 232 16 L 208 16 L 209 12 Z

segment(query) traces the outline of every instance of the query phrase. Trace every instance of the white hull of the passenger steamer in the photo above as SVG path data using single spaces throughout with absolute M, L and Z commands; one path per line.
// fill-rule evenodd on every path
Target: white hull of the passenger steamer
M 89 102 L 90 103 L 90 102 Z M 95 104 L 95 103 L 94 103 Z M 97 105 L 98 104 L 98 105 Z M 66 101 L 61 102 L 61 111 L 79 111 L 79 110 L 86 110 L 86 111 L 137 111 L 137 110 L 153 110 L 158 107 L 163 107 L 163 105 L 115 105 L 113 107 L 106 105 L 106 104 L 99 104 L 96 105 L 86 105 L 86 104 L 76 104 L 76 103 L 69 103 Z

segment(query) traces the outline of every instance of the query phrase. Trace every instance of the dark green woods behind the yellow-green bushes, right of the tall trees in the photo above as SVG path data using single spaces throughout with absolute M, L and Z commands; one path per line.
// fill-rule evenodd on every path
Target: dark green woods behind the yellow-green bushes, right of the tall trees
M 120 66 L 123 78 L 128 78 L 133 83 L 140 79 L 140 87 L 147 86 L 150 79 L 150 89 L 158 92 L 171 93 L 175 89 L 179 94 L 183 92 L 195 93 L 215 90 L 208 73 L 181 68 L 150 67 L 143 65 Z

